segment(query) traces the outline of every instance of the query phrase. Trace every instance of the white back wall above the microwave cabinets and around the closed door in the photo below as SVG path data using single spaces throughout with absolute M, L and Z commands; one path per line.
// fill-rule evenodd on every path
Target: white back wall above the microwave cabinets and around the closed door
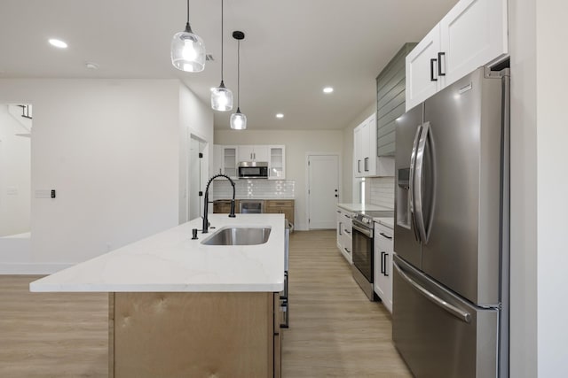
M 305 198 L 306 152 L 337 153 L 343 161 L 351 160 L 351 156 L 346 157 L 343 154 L 343 130 L 216 130 L 215 143 L 286 146 L 286 180 L 296 181 L 295 228 L 299 230 L 308 228 Z

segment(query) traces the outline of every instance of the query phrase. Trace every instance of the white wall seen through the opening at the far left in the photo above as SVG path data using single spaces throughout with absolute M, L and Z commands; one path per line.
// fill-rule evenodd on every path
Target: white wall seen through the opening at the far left
M 30 138 L 16 135 L 27 132 L 0 104 L 0 236 L 30 230 Z

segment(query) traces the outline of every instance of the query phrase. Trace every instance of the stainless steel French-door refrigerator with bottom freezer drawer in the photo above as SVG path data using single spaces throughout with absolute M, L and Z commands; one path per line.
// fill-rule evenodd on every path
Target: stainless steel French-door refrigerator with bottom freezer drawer
M 509 69 L 397 120 L 392 338 L 416 377 L 509 376 Z

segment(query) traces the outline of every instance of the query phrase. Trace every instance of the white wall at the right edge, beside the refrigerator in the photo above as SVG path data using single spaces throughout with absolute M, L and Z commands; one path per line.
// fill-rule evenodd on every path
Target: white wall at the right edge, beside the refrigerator
M 568 375 L 564 1 L 509 0 L 511 377 Z

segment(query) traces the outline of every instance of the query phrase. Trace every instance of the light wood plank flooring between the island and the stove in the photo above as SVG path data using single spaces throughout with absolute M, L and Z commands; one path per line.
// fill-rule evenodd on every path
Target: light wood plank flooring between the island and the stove
M 351 277 L 335 230 L 294 232 L 284 377 L 412 377 L 391 341 L 390 312 Z

